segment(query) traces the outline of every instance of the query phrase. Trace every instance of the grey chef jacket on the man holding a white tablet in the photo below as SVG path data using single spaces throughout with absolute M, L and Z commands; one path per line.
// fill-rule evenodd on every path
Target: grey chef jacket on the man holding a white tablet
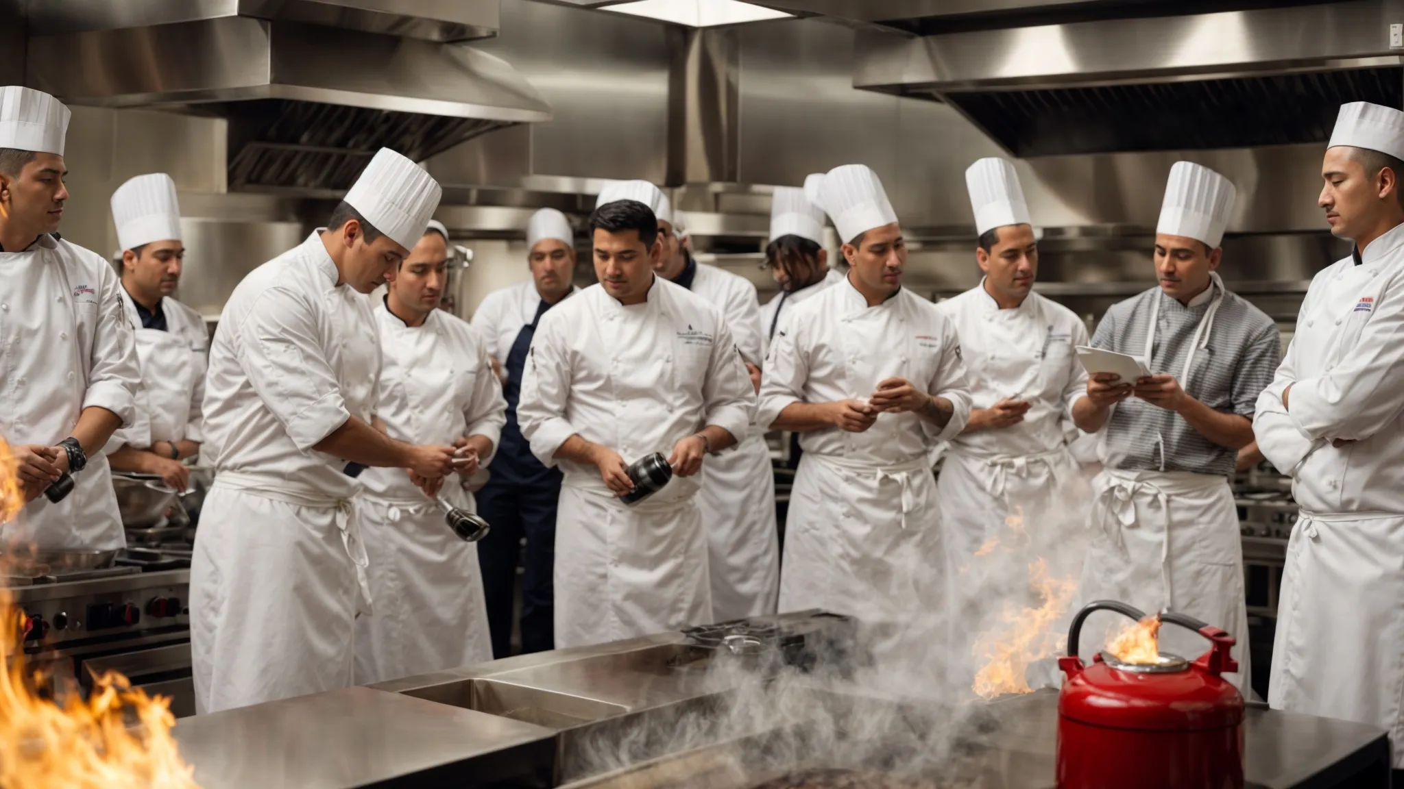
M 1207 340 L 1198 334 L 1213 299 L 1221 295 Z M 1147 362 L 1155 375 L 1172 375 L 1179 386 L 1210 409 L 1252 418 L 1258 394 L 1278 369 L 1282 338 L 1278 324 L 1262 310 L 1217 284 L 1182 305 L 1158 286 L 1112 305 L 1092 334 L 1092 347 L 1146 355 L 1146 331 L 1154 302 L 1160 300 L 1154 358 Z M 1189 380 L 1185 359 L 1196 336 Z M 1238 451 L 1220 446 L 1189 427 L 1179 414 L 1137 397 L 1116 403 L 1106 421 L 1104 458 L 1122 470 L 1195 472 L 1230 476 Z

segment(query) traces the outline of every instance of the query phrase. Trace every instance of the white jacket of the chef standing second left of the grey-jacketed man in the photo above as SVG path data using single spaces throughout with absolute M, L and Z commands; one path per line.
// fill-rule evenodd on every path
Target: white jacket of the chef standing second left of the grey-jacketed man
M 800 435 L 804 452 L 875 466 L 910 462 L 925 456 L 936 441 L 958 435 L 970 418 L 955 326 L 907 288 L 870 307 L 844 278 L 795 307 L 775 336 L 768 362 L 757 416 L 762 427 L 792 403 L 866 402 L 887 378 L 904 378 L 953 406 L 945 427 L 906 413 L 880 414 L 865 432 L 806 431 Z

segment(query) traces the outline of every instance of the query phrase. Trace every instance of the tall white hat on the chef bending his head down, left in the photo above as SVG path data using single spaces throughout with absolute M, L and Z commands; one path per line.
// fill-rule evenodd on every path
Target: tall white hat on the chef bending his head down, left
M 444 190 L 423 167 L 382 147 L 365 166 L 345 201 L 372 227 L 404 248 L 424 236 Z

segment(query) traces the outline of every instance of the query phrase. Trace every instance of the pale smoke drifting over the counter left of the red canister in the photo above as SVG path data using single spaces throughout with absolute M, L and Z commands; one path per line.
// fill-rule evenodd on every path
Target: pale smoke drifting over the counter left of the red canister
M 647 677 L 640 698 L 692 701 L 578 730 L 563 778 L 612 774 L 581 785 L 598 788 L 750 789 L 838 769 L 865 778 L 814 785 L 945 789 L 981 785 L 991 769 L 1008 776 L 1019 769 L 1008 764 L 1011 731 L 1047 722 L 1029 715 L 1036 699 L 1028 692 L 1060 685 L 1056 657 L 1087 545 L 1087 480 L 1047 490 L 1016 496 L 1022 519 L 1001 521 L 987 550 L 946 571 L 929 556 L 892 557 L 899 571 L 890 588 L 910 595 L 906 614 L 893 619 L 890 599 L 844 612 L 861 622 L 856 649 L 820 644 L 806 667 L 776 653 L 684 657 Z M 995 687 L 980 698 L 976 677 L 1001 660 L 1025 695 Z M 650 760 L 658 761 L 636 767 Z

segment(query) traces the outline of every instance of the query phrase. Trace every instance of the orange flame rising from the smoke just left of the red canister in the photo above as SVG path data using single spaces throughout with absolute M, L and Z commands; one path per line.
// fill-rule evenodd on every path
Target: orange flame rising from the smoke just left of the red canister
M 998 623 L 976 639 L 973 651 L 984 665 L 974 675 L 973 689 L 983 698 L 1032 692 L 1025 678 L 1029 664 L 1063 651 L 1067 636 L 1053 633 L 1053 625 L 1077 594 L 1078 580 L 1054 578 L 1047 560 L 1036 559 L 1029 564 L 1029 585 L 1042 602 L 1036 608 L 1007 602 Z

